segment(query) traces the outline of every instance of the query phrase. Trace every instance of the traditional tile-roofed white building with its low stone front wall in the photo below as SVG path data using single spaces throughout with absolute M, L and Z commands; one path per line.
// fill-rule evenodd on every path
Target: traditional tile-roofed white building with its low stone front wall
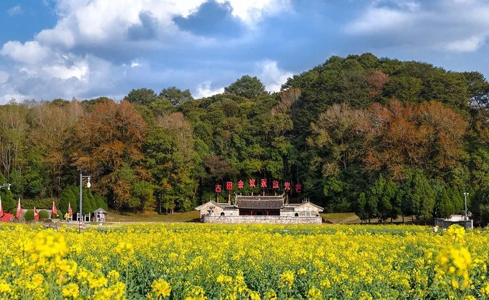
M 235 195 L 234 203 L 209 201 L 195 208 L 204 223 L 321 223 L 324 209 L 311 202 L 291 203 L 281 196 Z

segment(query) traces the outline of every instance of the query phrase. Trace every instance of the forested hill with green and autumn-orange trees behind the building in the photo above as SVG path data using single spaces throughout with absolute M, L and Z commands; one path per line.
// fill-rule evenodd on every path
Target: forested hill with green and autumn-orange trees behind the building
M 248 179 L 266 178 L 280 182 L 268 194 L 300 183 L 292 200 L 362 219 L 460 213 L 468 192 L 487 223 L 488 101 L 480 73 L 366 53 L 333 56 L 273 94 L 243 76 L 203 99 L 168 87 L 117 103 L 10 103 L 0 107 L 0 183 L 12 189 L 0 195 L 6 209 L 52 197 L 75 210 L 81 170 L 113 209 L 188 211 L 215 199 L 216 184 L 227 198 L 227 181 L 250 193 Z

